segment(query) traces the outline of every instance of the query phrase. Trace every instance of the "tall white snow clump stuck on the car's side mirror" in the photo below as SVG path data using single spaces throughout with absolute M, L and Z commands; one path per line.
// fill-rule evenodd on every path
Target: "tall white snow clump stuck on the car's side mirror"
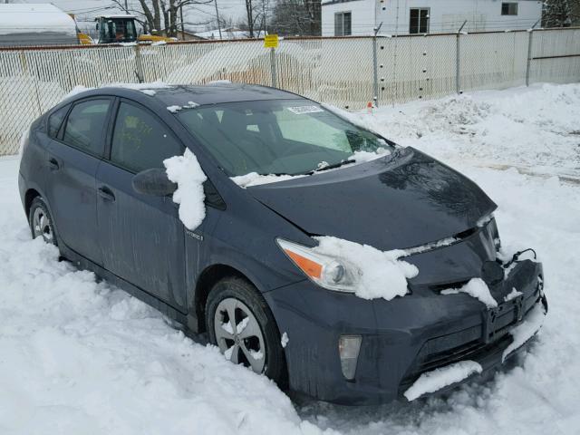
M 173 193 L 173 202 L 179 204 L 179 219 L 186 228 L 193 231 L 206 217 L 203 183 L 208 178 L 189 149 L 185 150 L 183 156 L 163 160 L 163 165 L 169 180 L 178 185 Z

